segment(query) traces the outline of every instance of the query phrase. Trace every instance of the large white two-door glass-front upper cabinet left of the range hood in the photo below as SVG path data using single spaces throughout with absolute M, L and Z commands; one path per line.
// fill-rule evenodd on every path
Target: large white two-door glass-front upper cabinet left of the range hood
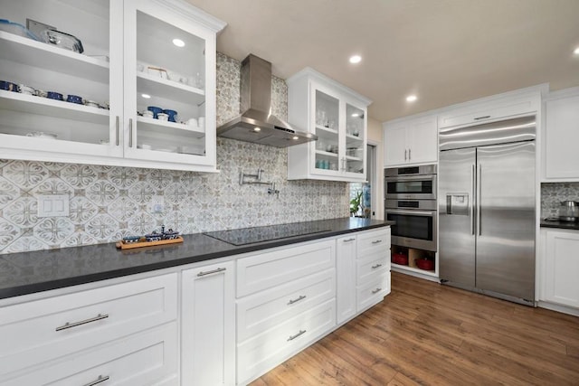
M 48 24 L 83 48 L 0 31 L 0 80 L 22 85 L 0 90 L 6 158 L 215 170 L 215 35 L 223 22 L 178 0 L 0 4 L 3 18 Z M 149 106 L 176 115 L 148 118 Z

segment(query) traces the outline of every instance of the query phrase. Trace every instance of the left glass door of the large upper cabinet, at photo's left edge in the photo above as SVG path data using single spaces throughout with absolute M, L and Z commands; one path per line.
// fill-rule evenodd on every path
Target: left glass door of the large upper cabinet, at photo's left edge
M 41 155 L 122 154 L 113 146 L 109 111 L 111 7 L 118 5 L 0 1 L 2 18 L 10 21 L 0 28 L 3 147 Z

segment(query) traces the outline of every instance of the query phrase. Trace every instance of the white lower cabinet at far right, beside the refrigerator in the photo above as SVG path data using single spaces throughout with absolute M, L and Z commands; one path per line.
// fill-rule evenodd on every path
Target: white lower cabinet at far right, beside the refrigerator
M 541 300 L 579 308 L 579 231 L 542 229 Z

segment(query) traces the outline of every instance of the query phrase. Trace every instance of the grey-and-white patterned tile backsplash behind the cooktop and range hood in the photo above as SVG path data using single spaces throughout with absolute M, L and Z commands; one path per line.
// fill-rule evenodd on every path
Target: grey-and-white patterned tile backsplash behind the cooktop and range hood
M 240 63 L 217 55 L 218 125 L 239 113 Z M 287 118 L 287 86 L 272 79 L 273 112 Z M 0 254 L 119 240 L 162 224 L 184 234 L 348 216 L 348 185 L 287 181 L 287 150 L 217 138 L 220 174 L 0 160 Z M 266 185 L 240 185 L 264 170 Z M 67 194 L 68 217 L 39 218 L 41 194 Z M 162 196 L 164 211 L 151 210 Z

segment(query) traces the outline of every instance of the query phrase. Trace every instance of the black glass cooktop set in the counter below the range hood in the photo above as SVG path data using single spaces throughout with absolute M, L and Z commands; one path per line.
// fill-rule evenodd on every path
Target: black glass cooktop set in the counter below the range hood
M 230 231 L 204 232 L 204 235 L 233 245 L 246 245 L 255 242 L 287 239 L 310 233 L 330 231 L 316 224 L 295 223 L 269 225 L 264 227 L 242 228 Z

